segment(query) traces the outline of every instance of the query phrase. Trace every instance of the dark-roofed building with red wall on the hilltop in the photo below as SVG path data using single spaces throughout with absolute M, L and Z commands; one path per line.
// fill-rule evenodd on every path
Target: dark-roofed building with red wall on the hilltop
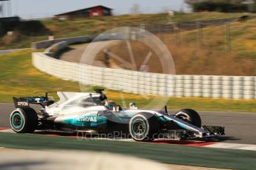
M 101 16 L 112 16 L 112 10 L 109 7 L 98 5 L 95 7 L 88 7 L 81 10 L 74 10 L 68 13 L 60 13 L 55 15 L 59 19 L 73 18 L 73 17 L 101 17 Z

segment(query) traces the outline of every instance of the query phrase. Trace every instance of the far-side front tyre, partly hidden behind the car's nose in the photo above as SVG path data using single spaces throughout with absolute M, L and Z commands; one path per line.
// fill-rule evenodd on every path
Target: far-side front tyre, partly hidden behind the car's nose
M 185 120 L 188 123 L 191 123 L 194 126 L 201 127 L 202 122 L 200 115 L 193 109 L 181 109 L 175 114 L 177 118 Z

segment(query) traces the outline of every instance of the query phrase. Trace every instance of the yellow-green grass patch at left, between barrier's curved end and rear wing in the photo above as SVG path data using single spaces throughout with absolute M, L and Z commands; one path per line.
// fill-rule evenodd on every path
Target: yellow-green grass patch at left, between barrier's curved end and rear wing
M 0 55 L 1 102 L 13 95 L 35 95 L 37 91 L 78 91 L 78 84 L 62 81 L 32 67 L 31 50 Z M 60 85 L 61 84 L 61 85 Z

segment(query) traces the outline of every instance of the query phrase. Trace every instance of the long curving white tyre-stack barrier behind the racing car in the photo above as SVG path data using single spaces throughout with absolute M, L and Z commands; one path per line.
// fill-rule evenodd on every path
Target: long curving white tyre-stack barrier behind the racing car
M 33 52 L 33 66 L 67 81 L 146 95 L 256 99 L 255 76 L 168 75 L 93 67 Z

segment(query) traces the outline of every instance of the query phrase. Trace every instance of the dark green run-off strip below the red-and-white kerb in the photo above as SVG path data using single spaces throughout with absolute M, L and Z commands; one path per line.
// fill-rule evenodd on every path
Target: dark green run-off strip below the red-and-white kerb
M 112 152 L 156 160 L 162 163 L 222 169 L 255 169 L 256 166 L 256 152 L 236 149 L 211 149 L 111 140 L 77 140 L 71 137 L 48 137 L 6 132 L 0 132 L 0 146 L 13 149 L 73 149 Z

